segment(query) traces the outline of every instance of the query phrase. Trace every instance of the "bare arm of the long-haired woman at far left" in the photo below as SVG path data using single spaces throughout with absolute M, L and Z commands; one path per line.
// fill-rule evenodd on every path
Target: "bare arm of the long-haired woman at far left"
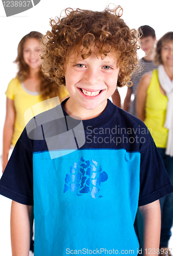
M 8 154 L 14 131 L 15 108 L 14 100 L 7 98 L 6 120 L 3 133 L 3 172 L 8 162 Z

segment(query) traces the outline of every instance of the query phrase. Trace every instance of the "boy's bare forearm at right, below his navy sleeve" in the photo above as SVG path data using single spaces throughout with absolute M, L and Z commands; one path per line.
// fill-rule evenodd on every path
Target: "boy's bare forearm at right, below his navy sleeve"
M 138 207 L 137 226 L 142 255 L 158 255 L 161 229 L 159 200 Z

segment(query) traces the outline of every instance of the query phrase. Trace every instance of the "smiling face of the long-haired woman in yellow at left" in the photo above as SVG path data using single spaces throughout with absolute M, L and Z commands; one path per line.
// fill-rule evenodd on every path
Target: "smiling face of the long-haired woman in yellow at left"
M 30 69 L 39 69 L 41 48 L 36 38 L 29 38 L 24 43 L 23 57 Z

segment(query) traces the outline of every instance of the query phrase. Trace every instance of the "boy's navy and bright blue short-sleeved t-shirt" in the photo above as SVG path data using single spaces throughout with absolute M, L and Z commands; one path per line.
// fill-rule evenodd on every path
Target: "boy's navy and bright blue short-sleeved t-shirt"
M 62 104 L 33 118 L 0 181 L 2 195 L 34 205 L 35 256 L 137 255 L 138 206 L 172 191 L 144 123 L 110 100 L 82 122 Z

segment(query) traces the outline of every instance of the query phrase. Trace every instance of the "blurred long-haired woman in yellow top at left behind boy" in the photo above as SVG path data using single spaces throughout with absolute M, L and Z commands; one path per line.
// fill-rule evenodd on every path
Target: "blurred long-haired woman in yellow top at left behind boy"
M 66 87 L 58 88 L 55 83 L 47 80 L 40 70 L 41 37 L 41 33 L 32 31 L 25 35 L 18 44 L 18 54 L 14 61 L 18 64 L 18 73 L 10 81 L 6 91 L 7 112 L 3 134 L 3 172 L 8 162 L 10 146 L 12 144 L 14 147 L 24 130 L 26 110 L 49 98 L 58 96 L 61 102 L 69 96 Z M 47 109 L 54 106 L 49 104 Z M 36 114 L 44 110 L 40 109 Z

